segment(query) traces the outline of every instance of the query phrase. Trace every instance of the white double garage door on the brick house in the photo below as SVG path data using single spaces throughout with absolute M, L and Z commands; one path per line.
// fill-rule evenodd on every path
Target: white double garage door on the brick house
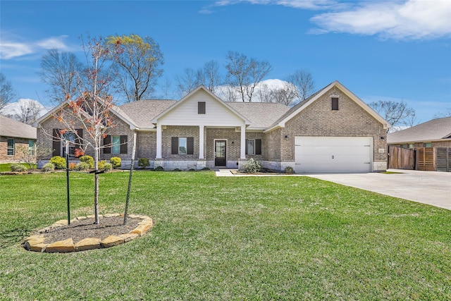
M 295 137 L 295 171 L 369 172 L 372 137 Z

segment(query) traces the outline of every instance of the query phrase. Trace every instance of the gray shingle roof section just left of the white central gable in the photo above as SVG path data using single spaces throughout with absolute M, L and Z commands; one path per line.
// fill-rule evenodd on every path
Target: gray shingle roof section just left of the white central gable
M 125 112 L 126 116 L 130 118 L 130 121 L 135 123 L 138 128 L 149 129 L 155 128 L 155 125 L 150 121 L 173 104 L 175 104 L 175 100 L 151 99 L 130 102 L 129 104 L 119 106 L 119 108 Z

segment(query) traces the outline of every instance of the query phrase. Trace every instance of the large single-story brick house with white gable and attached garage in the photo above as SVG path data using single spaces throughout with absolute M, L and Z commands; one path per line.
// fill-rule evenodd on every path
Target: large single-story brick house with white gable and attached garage
M 112 112 L 116 126 L 104 139 L 104 145 L 112 147 L 104 149 L 101 159 L 120 156 L 125 165 L 130 165 L 136 143 L 135 159 L 148 158 L 151 167 L 166 170 L 241 169 L 250 158 L 266 168 L 283 171 L 290 166 L 297 173 L 387 168 L 386 133 L 391 125 L 338 81 L 292 108 L 223 102 L 200 86 L 177 102 L 141 100 Z M 58 135 L 61 125 L 50 111 L 38 127 Z M 42 130 L 38 141 L 52 147 L 54 155 L 63 155 L 61 142 Z M 75 148 L 78 141 L 70 139 Z

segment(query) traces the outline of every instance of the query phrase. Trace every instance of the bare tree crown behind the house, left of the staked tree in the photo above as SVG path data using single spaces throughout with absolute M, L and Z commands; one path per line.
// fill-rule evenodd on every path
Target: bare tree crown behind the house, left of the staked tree
M 78 76 L 83 65 L 71 52 L 60 52 L 51 49 L 42 56 L 39 76 L 41 81 L 49 86 L 47 94 L 57 104 L 74 94 L 78 87 Z

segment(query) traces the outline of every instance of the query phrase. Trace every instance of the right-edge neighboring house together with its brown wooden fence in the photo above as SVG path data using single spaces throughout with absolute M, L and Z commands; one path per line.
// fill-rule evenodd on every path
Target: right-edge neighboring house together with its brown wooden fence
M 451 171 L 451 117 L 388 134 L 389 167 Z

